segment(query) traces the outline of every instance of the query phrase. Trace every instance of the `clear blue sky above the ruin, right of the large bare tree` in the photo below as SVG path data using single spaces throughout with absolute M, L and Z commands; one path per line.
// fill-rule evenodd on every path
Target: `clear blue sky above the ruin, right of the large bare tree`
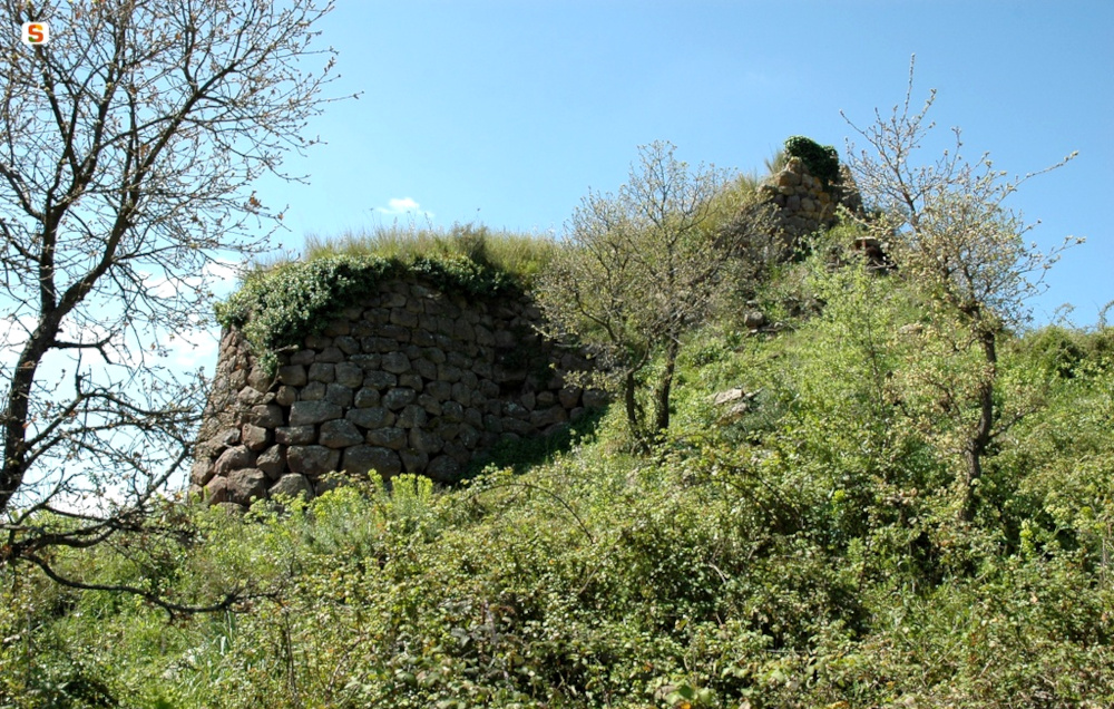
M 1114 2 L 341 0 L 321 26 L 339 52 L 331 105 L 311 126 L 328 145 L 266 181 L 300 250 L 405 214 L 560 233 L 589 187 L 615 190 L 637 146 L 677 145 L 691 163 L 761 171 L 790 135 L 844 149 L 840 110 L 870 123 L 938 89 L 938 142 L 961 126 L 967 154 L 1010 174 L 1068 166 L 1013 202 L 1066 253 L 1034 302 L 1094 323 L 1114 300 Z

